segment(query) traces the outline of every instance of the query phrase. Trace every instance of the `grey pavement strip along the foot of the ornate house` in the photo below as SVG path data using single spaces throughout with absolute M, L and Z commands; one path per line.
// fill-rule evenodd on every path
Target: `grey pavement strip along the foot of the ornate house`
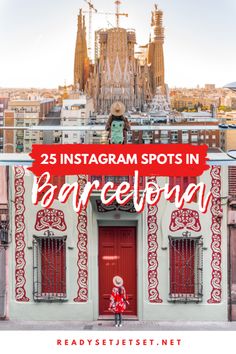
M 0 321 L 0 331 L 236 331 L 236 322 L 125 321 L 115 328 L 112 321 Z

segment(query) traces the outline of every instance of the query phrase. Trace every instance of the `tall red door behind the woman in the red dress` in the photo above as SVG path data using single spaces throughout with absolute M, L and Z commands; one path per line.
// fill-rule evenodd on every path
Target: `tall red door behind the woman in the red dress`
M 136 273 L 136 228 L 99 228 L 99 315 L 111 315 L 108 311 L 112 279 L 119 275 L 130 305 L 126 315 L 137 315 L 137 273 Z

